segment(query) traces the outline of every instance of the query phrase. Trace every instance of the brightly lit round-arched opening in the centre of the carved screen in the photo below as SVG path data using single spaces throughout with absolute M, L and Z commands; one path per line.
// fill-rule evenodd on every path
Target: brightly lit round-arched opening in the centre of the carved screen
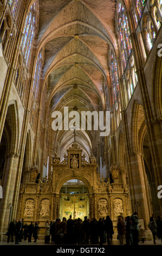
M 89 217 L 89 191 L 81 180 L 68 180 L 60 190 L 60 218 L 70 215 L 74 220 Z

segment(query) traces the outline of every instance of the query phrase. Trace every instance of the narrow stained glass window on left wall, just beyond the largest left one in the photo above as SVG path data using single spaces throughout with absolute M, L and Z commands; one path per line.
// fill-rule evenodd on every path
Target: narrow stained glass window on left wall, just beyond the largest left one
M 37 57 L 37 62 L 35 66 L 35 75 L 34 75 L 34 83 L 33 83 L 33 92 L 35 94 L 35 97 L 37 96 L 38 93 L 38 85 L 40 83 L 40 74 L 42 70 L 42 64 L 43 64 L 43 56 L 42 56 L 42 51 L 38 54 Z

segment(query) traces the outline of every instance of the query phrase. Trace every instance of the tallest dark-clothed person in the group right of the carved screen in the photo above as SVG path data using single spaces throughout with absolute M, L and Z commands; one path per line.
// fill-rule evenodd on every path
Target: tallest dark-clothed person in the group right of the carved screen
M 137 246 L 139 235 L 139 221 L 137 212 L 134 212 L 134 214 L 129 218 L 129 222 L 131 224 L 130 231 L 132 233 L 132 245 Z

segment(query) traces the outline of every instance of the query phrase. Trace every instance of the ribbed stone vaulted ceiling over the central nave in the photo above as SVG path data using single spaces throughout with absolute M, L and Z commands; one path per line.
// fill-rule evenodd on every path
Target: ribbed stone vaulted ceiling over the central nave
M 38 50 L 44 47 L 43 79 L 48 80 L 51 111 L 64 106 L 79 112 L 105 110 L 103 82 L 109 81 L 109 50 L 116 50 L 116 0 L 38 2 L 37 45 Z M 72 132 L 68 141 L 69 136 Z M 86 137 L 85 143 L 90 151 Z

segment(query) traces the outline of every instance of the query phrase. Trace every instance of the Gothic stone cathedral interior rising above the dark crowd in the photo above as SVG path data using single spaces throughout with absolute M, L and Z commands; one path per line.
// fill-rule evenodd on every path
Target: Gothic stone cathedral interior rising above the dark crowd
M 162 214 L 161 22 L 161 0 L 0 0 L 1 241 Z

